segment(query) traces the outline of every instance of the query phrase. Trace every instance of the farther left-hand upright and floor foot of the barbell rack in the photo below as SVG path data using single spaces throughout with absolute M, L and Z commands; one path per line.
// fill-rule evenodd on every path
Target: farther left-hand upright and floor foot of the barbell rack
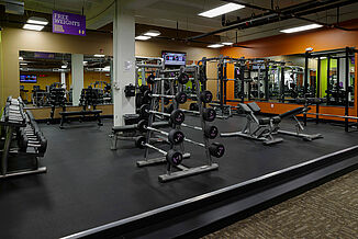
M 169 71 L 167 71 L 167 70 L 159 70 L 159 69 L 157 69 L 155 76 L 161 76 L 161 77 L 164 77 L 168 72 Z M 153 83 L 152 91 L 153 91 L 154 94 L 163 94 L 164 93 L 163 80 L 156 80 Z M 171 84 L 172 83 L 174 82 L 171 82 Z M 163 104 L 163 101 L 161 101 L 161 104 Z M 150 100 L 150 104 L 149 105 L 150 105 L 150 111 L 158 110 L 158 107 L 159 107 L 158 98 L 153 98 Z M 148 117 L 148 126 L 149 127 L 155 127 L 154 120 L 155 120 L 155 114 L 149 114 L 149 117 Z M 152 130 L 148 130 L 146 133 L 146 143 L 149 143 L 150 139 L 153 138 L 152 137 L 152 133 L 153 133 Z M 161 138 L 163 140 L 167 141 L 166 138 L 163 138 L 159 135 L 157 136 L 157 138 Z M 170 148 L 172 149 L 174 146 L 171 145 Z M 182 157 L 183 158 L 190 158 L 190 153 L 183 153 Z M 166 163 L 166 162 L 167 162 L 166 157 L 149 158 L 149 148 L 145 148 L 144 160 L 138 160 L 136 162 L 136 164 L 137 164 L 137 167 L 146 167 L 146 166 L 154 166 L 154 164 L 160 164 L 160 163 Z

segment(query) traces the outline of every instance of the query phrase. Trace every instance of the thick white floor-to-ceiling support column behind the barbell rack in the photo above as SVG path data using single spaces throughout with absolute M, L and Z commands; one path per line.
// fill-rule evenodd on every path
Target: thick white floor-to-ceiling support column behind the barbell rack
M 135 113 L 135 98 L 126 98 L 125 86 L 135 86 L 135 22 L 127 9 L 131 0 L 115 0 L 113 20 L 114 126 L 124 125 L 123 115 Z

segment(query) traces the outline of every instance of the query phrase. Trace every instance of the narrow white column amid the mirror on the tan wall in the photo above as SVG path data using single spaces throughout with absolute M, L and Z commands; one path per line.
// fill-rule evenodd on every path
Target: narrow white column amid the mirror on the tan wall
M 83 55 L 71 55 L 72 104 L 79 105 L 79 98 L 83 89 Z

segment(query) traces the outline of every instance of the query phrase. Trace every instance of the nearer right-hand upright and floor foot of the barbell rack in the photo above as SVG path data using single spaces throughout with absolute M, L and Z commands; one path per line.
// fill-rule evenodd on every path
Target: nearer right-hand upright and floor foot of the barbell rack
M 203 118 L 203 110 L 204 110 L 204 103 L 201 101 L 200 98 L 200 92 L 201 92 L 201 87 L 200 87 L 200 81 L 199 81 L 199 67 L 198 66 L 192 66 L 192 67 L 187 67 L 186 72 L 192 72 L 194 75 L 194 82 L 195 82 L 195 90 L 197 90 L 197 99 L 198 99 L 198 106 L 199 106 L 199 112 L 200 112 L 200 121 L 201 121 L 201 128 L 205 128 L 206 122 Z M 182 86 L 179 86 L 179 88 L 182 88 Z M 182 89 L 179 89 L 179 91 Z M 171 92 L 174 92 L 174 89 L 171 89 Z M 174 109 L 179 109 L 179 105 L 174 102 Z M 180 129 L 180 126 L 176 126 L 178 129 Z M 183 164 L 179 164 L 176 167 L 178 171 L 174 171 L 172 167 L 168 167 L 167 173 L 159 175 L 159 181 L 160 182 L 166 182 L 166 181 L 171 181 L 175 179 L 180 179 L 184 177 L 190 177 L 190 175 L 195 175 L 200 174 L 203 172 L 212 171 L 219 169 L 219 164 L 214 163 L 212 160 L 212 156 L 209 151 L 209 139 L 204 136 L 203 134 L 203 145 L 205 146 L 205 155 L 208 159 L 208 163 L 199 167 L 192 167 L 188 168 Z M 183 146 L 181 145 L 181 150 L 184 150 Z

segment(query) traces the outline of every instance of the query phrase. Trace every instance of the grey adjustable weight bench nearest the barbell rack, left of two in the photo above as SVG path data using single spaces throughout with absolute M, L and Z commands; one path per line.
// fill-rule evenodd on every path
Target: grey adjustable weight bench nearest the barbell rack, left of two
M 260 112 L 260 107 L 255 103 L 239 103 L 238 107 L 246 114 L 246 124 L 240 132 L 222 133 L 221 137 L 234 137 L 239 136 L 248 139 L 262 141 L 264 145 L 272 145 L 283 141 L 282 138 L 273 138 L 272 133 L 275 125 L 281 122 L 279 116 L 257 118 L 255 113 Z

